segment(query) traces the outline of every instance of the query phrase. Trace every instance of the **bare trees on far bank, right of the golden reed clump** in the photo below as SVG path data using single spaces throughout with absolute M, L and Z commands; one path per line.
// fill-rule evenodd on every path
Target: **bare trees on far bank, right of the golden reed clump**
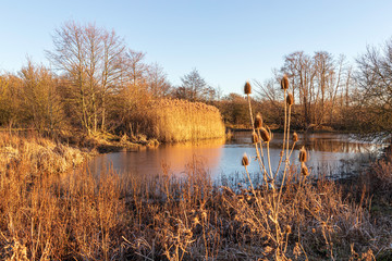
M 303 51 L 284 57 L 273 77 L 253 80 L 254 110 L 282 127 L 284 98 L 280 79 L 286 75 L 294 96 L 292 126 L 297 129 L 336 129 L 363 134 L 392 132 L 392 41 L 368 47 L 354 64 L 344 55 Z M 244 96 L 230 94 L 215 103 L 229 125 L 250 127 Z

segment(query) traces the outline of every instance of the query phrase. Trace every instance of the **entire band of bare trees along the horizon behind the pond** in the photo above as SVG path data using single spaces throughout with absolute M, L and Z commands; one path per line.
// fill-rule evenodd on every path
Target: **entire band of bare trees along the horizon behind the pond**
M 142 127 L 151 104 L 182 99 L 217 107 L 226 126 L 249 127 L 243 95 L 222 97 L 196 69 L 174 87 L 159 64 L 147 64 L 145 53 L 130 49 L 113 30 L 69 22 L 52 37 L 53 48 L 46 51 L 51 69 L 27 59 L 17 74 L 0 75 L 0 126 L 77 128 L 87 135 L 154 133 Z M 368 47 L 354 64 L 326 51 L 290 53 L 272 78 L 252 82 L 253 108 L 267 124 L 282 127 L 279 82 L 285 74 L 295 100 L 294 128 L 390 133 L 391 50 L 391 41 Z

